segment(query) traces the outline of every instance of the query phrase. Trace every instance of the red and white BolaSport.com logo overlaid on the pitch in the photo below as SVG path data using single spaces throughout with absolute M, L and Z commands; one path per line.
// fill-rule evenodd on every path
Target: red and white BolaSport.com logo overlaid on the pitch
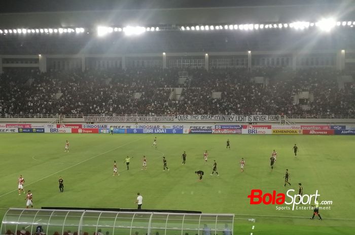
M 265 205 L 290 205 L 289 209 L 283 208 L 290 210 L 291 205 L 292 205 L 292 210 L 296 209 L 311 209 L 311 208 L 304 208 L 304 207 L 298 207 L 298 205 L 315 205 L 316 204 L 316 199 L 321 196 L 318 194 L 318 190 L 315 191 L 315 194 L 304 194 L 304 195 L 299 195 L 295 194 L 295 190 L 290 189 L 286 192 L 286 194 L 283 193 L 276 193 L 275 190 L 272 191 L 272 193 L 265 193 L 263 194 L 262 190 L 252 190 L 250 195 L 247 197 L 250 198 L 250 204 L 251 205 L 258 205 L 258 204 L 265 204 Z M 321 205 L 332 205 L 333 201 L 322 201 L 320 203 Z M 278 207 L 276 207 L 278 209 Z

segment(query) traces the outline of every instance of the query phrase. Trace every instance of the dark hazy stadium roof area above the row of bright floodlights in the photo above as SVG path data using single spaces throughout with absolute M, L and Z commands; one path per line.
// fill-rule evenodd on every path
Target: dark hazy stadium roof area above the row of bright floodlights
M 12 0 L 2 1 L 0 28 L 216 24 L 354 20 L 350 0 Z

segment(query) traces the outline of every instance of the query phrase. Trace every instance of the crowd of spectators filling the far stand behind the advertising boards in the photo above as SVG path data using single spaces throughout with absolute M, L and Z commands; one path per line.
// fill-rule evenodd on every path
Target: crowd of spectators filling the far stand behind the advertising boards
M 184 84 L 178 72 L 9 70 L 0 76 L 0 115 L 355 115 L 355 85 L 339 86 L 332 69 L 189 69 Z M 309 99 L 299 104 L 302 91 Z

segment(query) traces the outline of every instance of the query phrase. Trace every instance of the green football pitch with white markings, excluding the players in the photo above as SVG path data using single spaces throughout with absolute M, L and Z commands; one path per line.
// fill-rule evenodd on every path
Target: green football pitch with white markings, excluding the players
M 234 234 L 354 234 L 355 158 L 353 136 L 202 135 L 202 134 L 1 134 L 0 208 L 25 207 L 17 194 L 17 179 L 33 193 L 34 208 L 136 208 L 137 192 L 143 209 L 198 210 L 234 213 Z M 154 136 L 157 149 L 152 147 Z M 226 149 L 230 139 L 231 149 Z M 70 152 L 64 153 L 65 140 Z M 299 154 L 294 157 L 292 147 Z M 278 153 L 273 171 L 270 155 Z M 209 153 L 204 164 L 203 152 Z M 181 155 L 186 151 L 186 165 Z M 124 159 L 131 158 L 130 169 Z M 147 156 L 147 170 L 141 170 Z M 162 157 L 169 171 L 163 171 Z M 244 172 L 239 161 L 245 159 Z M 113 176 L 113 162 L 119 176 Z M 219 177 L 210 176 L 212 162 Z M 291 186 L 283 186 L 286 168 Z M 205 172 L 198 181 L 197 170 Z M 58 178 L 64 179 L 64 193 Z M 318 190 L 319 201 L 332 201 L 320 210 L 323 220 L 310 220 L 312 210 L 276 210 L 275 205 L 250 205 L 252 189 L 264 193 Z M 255 219 L 251 222 L 248 219 Z

